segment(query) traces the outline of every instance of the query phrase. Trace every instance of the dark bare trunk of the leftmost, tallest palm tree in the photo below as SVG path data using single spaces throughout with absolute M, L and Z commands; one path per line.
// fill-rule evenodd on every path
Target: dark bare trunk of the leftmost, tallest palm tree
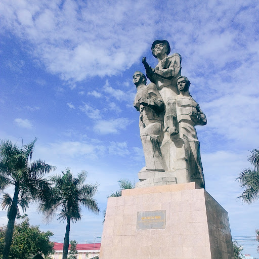
M 17 202 L 18 202 L 18 194 L 19 194 L 19 185 L 15 185 L 14 197 L 11 208 L 8 212 L 8 224 L 6 228 L 6 236 L 5 236 L 5 245 L 3 251 L 3 259 L 8 259 L 10 247 L 12 244 L 12 238 L 14 233 L 14 223 L 17 215 Z

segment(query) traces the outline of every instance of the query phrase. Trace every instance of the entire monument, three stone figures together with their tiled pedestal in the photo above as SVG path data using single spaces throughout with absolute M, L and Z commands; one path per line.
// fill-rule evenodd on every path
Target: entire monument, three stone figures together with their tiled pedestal
M 196 125 L 207 123 L 181 56 L 155 40 L 133 75 L 145 166 L 135 189 L 108 199 L 100 259 L 234 259 L 227 211 L 206 191 Z M 150 83 L 147 84 L 147 78 Z

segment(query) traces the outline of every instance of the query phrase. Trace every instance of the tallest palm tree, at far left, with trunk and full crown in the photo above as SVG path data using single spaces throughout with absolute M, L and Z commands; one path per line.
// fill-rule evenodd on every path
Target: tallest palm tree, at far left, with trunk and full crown
M 3 209 L 8 209 L 3 259 L 8 259 L 15 219 L 20 217 L 19 206 L 26 211 L 30 200 L 40 200 L 49 188 L 44 175 L 56 167 L 38 159 L 31 162 L 36 138 L 28 145 L 18 148 L 9 140 L 0 141 L 0 190 L 14 186 L 13 198 L 4 193 Z

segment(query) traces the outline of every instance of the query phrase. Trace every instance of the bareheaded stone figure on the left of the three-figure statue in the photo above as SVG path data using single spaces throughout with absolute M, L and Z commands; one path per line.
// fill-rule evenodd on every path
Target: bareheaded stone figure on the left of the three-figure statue
M 164 171 L 160 146 L 163 139 L 164 103 L 156 85 L 140 71 L 133 75 L 137 88 L 134 107 L 140 112 L 140 138 L 146 160 L 143 170 Z

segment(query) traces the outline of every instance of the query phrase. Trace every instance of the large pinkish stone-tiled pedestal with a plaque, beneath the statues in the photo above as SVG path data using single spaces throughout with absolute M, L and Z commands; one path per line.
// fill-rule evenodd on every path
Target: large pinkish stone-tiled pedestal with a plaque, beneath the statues
M 234 259 L 227 211 L 193 183 L 108 199 L 100 259 Z

